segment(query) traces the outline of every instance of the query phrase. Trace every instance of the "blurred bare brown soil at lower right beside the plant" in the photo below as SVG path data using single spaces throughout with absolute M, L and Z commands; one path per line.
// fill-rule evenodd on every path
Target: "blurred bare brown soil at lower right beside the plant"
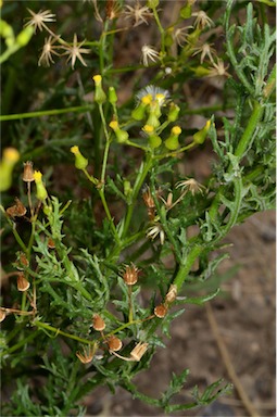
M 227 280 L 223 294 L 205 307 L 188 305 L 186 313 L 172 326 L 172 339 L 166 349 L 158 350 L 149 370 L 140 374 L 136 382 L 141 392 L 160 396 L 172 372 L 190 369 L 188 383 L 178 395 L 178 403 L 190 402 L 194 384 L 200 390 L 224 377 L 234 382 L 226 368 L 231 364 L 245 392 L 245 400 L 238 395 L 237 383 L 230 395 L 221 397 L 213 405 L 179 416 L 275 416 L 275 212 L 254 215 L 229 233 L 226 242 L 230 258 L 223 262 L 224 274 L 231 266 L 239 269 Z M 229 358 L 223 359 L 218 351 L 214 318 Z M 209 319 L 210 317 L 210 319 Z M 133 400 L 118 389 L 111 395 L 99 389 L 87 397 L 87 416 L 165 416 L 160 409 Z M 176 414 L 175 414 L 176 415 Z

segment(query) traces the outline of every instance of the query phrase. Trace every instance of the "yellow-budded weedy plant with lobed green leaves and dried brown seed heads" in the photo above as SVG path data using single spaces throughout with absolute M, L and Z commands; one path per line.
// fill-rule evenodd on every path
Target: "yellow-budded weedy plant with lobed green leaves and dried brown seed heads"
M 263 3 L 273 5 L 270 0 Z M 218 289 L 193 298 L 187 293 L 191 283 L 209 280 L 226 258 L 221 252 L 223 238 L 253 213 L 274 205 L 276 73 L 270 58 L 275 36 L 265 14 L 263 26 L 257 24 L 251 2 L 243 5 L 244 24 L 236 25 L 230 23 L 237 7 L 232 0 L 223 3 L 219 21 L 213 21 L 209 8 L 197 10 L 196 0 L 186 0 L 168 27 L 163 26 L 159 0 L 143 4 L 109 0 L 104 7 L 92 0 L 84 1 L 85 5 L 93 10 L 102 28 L 99 40 L 79 40 L 74 34 L 68 42 L 49 27 L 55 23 L 51 10 L 28 9 L 29 17 L 17 37 L 1 22 L 7 45 L 1 62 L 15 56 L 34 34 L 46 31 L 38 66 L 53 65 L 65 56 L 72 70 L 91 67 L 92 104 L 2 115 L 1 119 L 91 111 L 95 148 L 76 140 L 66 157 L 75 163 L 76 176 L 80 174 L 83 185 L 87 181 L 91 201 L 101 204 L 103 212 L 101 224 L 85 200 L 75 203 L 52 195 L 39 159 L 34 157 L 34 163 L 25 159 L 14 143 L 3 150 L 1 191 L 13 185 L 18 161 L 24 162 L 20 189 L 25 190 L 12 205 L 1 205 L 4 233 L 12 231 L 17 244 L 13 264 L 4 265 L 12 290 L 0 308 L 2 367 L 16 381 L 3 415 L 81 416 L 86 412 L 81 399 L 102 384 L 112 392 L 121 386 L 166 413 L 206 405 L 229 392 L 230 384 L 218 380 L 203 393 L 196 388 L 191 402 L 176 404 L 172 399 L 182 389 L 188 369 L 173 375 L 160 399 L 141 393 L 133 378 L 151 366 L 158 346 L 165 346 L 162 337 L 169 336 L 172 320 L 184 314 L 181 305 L 204 304 L 217 295 Z M 226 36 L 222 56 L 210 36 L 219 24 Z M 152 45 L 149 39 L 136 66 L 122 72 L 151 67 L 155 75 L 137 89 L 131 103 L 122 105 L 114 83 L 121 70 L 112 67 L 111 46 L 115 34 L 139 30 L 141 25 L 155 25 L 160 42 Z M 91 62 L 91 53 L 99 66 Z M 221 140 L 218 117 L 212 111 L 205 111 L 198 130 L 186 129 L 184 122 L 189 111 L 178 89 L 185 80 L 206 77 L 227 79 L 229 105 L 235 109 L 231 119 L 223 119 Z M 211 176 L 203 184 L 193 176 L 181 177 L 178 163 L 207 140 L 217 157 Z M 135 150 L 141 155 L 138 166 L 133 161 Z M 121 161 L 123 153 L 130 174 L 118 168 L 112 175 L 112 160 Z M 116 216 L 115 200 L 121 202 Z M 28 225 L 27 232 L 17 229 L 18 219 Z M 198 230 L 192 237 L 190 226 Z M 163 262 L 168 254 L 169 265 Z M 142 291 L 146 281 L 153 290 L 148 301 Z M 7 377 L 8 384 L 11 379 Z

